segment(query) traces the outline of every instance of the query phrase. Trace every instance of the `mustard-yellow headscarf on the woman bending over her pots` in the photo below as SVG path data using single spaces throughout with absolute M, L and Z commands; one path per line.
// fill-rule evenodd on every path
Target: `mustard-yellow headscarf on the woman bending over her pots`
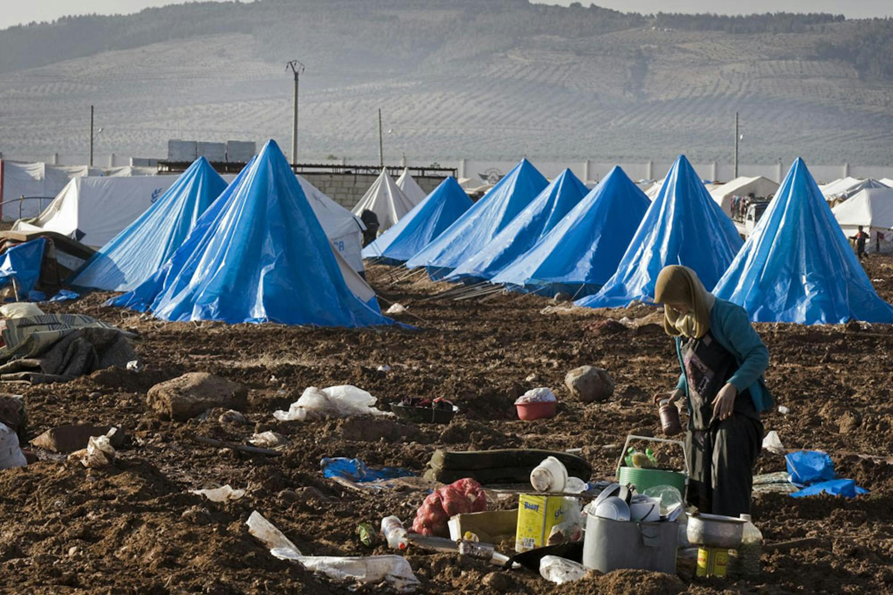
M 663 330 L 671 336 L 687 336 L 700 339 L 710 330 L 710 312 L 714 308 L 713 293 L 708 292 L 697 273 L 688 267 L 670 265 L 657 276 L 655 302 L 663 303 Z M 682 314 L 667 302 L 688 306 Z

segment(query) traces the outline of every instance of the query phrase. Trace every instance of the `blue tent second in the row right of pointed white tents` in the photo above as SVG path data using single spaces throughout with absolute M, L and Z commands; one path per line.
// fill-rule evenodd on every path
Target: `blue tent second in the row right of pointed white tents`
M 406 266 L 427 267 L 432 279 L 446 276 L 502 231 L 546 186 L 547 179 L 522 159 L 444 233 L 407 260 Z

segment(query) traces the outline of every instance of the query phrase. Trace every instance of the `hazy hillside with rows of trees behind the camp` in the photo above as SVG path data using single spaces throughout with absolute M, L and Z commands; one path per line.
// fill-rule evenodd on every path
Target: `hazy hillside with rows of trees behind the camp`
M 163 155 L 171 137 L 388 158 L 890 164 L 890 21 L 623 14 L 524 0 L 263 0 L 0 31 L 0 151 Z

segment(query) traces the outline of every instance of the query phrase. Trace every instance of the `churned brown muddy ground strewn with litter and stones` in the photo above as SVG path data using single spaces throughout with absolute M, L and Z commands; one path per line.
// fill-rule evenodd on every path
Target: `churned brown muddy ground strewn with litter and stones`
M 867 268 L 879 293 L 893 300 L 893 259 L 869 260 Z M 360 457 L 369 465 L 421 473 L 436 448 L 581 448 L 595 476 L 607 478 L 619 454 L 616 444 L 627 434 L 660 435 L 648 395 L 671 388 L 678 369 L 672 342 L 653 324 L 659 320 L 654 310 L 543 313 L 551 301 L 517 295 L 483 304 L 423 301 L 441 287 L 395 283 L 381 267 L 370 274 L 384 299 L 409 306 L 418 318 L 400 319 L 416 330 L 165 324 L 105 308 L 107 294 L 48 309 L 88 313 L 138 333 L 146 368 L 100 371 L 68 384 L 6 387 L 25 395 L 29 437 L 53 426 L 92 422 L 123 427 L 129 444 L 114 467 L 86 469 L 41 452 L 38 463 L 0 473 L 0 591 L 352 592 L 351 584 L 273 558 L 247 533 L 247 516 L 260 511 L 305 554 L 382 554 L 388 550 L 357 541 L 356 525 L 377 524 L 389 514 L 409 522 L 425 492 L 349 490 L 321 476 L 321 458 Z M 609 322 L 623 317 L 637 324 Z M 527 571 L 494 574 L 478 561 L 410 550 L 421 591 L 893 592 L 893 466 L 882 460 L 893 443 L 893 326 L 758 330 L 772 352 L 768 384 L 777 403 L 790 409 L 789 415 L 765 415 L 766 430 L 777 430 L 788 448 L 829 451 L 839 475 L 871 491 L 855 500 L 755 497 L 755 523 L 767 545 L 814 541 L 764 553 L 764 577 L 755 583 L 693 583 L 687 576 L 627 571 L 588 575 L 560 588 Z M 563 376 L 584 364 L 613 376 L 611 401 L 584 406 L 570 400 Z M 390 370 L 377 371 L 381 365 Z M 204 421 L 159 420 L 146 408 L 146 391 L 187 371 L 245 384 L 249 423 L 221 423 L 221 411 Z M 462 413 L 450 426 L 272 417 L 306 386 L 332 384 L 355 384 L 385 406 L 405 396 L 447 397 Z M 540 385 L 562 401 L 557 417 L 517 420 L 514 398 Z M 283 456 L 249 456 L 191 439 L 200 434 L 246 443 L 263 430 L 288 436 Z M 756 471 L 782 469 L 781 457 L 764 452 Z M 215 504 L 188 492 L 224 483 L 246 489 L 246 496 Z

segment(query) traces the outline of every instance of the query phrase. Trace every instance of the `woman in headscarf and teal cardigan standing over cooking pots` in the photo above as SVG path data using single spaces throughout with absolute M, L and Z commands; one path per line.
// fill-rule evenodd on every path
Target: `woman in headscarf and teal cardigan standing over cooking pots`
M 692 269 L 664 267 L 655 302 L 663 304 L 663 329 L 675 338 L 682 373 L 676 390 L 654 398 L 686 398 L 689 504 L 715 515 L 748 514 L 763 444 L 760 412 L 772 407 L 762 378 L 769 350 L 747 311 L 716 299 Z

